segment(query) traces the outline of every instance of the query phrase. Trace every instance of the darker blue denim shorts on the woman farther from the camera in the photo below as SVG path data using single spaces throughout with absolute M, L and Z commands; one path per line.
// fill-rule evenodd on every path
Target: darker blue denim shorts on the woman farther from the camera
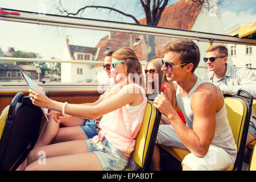
M 88 139 L 97 135 L 96 123 L 94 119 L 84 119 L 84 125 L 79 127 L 82 130 L 82 133 L 84 133 Z

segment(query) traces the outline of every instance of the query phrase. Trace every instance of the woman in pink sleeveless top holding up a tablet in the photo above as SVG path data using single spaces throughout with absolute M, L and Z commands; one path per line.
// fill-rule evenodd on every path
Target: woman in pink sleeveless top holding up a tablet
M 142 124 L 147 97 L 142 88 L 141 63 L 133 49 L 121 48 L 112 57 L 115 81 L 119 84 L 95 106 L 61 103 L 29 90 L 34 105 L 60 111 L 59 116 L 104 117 L 100 123 L 101 131 L 93 139 L 56 143 L 32 150 L 26 170 L 122 170 L 127 166 Z M 131 110 L 130 107 L 134 108 Z M 39 151 L 47 154 L 44 165 L 37 161 Z

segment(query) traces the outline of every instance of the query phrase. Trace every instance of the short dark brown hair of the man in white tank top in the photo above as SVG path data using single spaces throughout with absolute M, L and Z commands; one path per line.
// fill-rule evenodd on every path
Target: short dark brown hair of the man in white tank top
M 179 39 L 167 44 L 163 51 L 165 53 L 174 51 L 178 52 L 182 63 L 192 63 L 194 72 L 200 61 L 199 47 L 191 39 Z

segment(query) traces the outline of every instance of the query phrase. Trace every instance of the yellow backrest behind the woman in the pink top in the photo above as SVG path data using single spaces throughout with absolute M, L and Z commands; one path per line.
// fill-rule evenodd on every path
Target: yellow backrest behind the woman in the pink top
M 161 113 L 153 106 L 153 101 L 147 101 L 142 126 L 131 154 L 133 160 L 141 166 L 142 170 L 147 170 L 150 166 L 160 118 Z

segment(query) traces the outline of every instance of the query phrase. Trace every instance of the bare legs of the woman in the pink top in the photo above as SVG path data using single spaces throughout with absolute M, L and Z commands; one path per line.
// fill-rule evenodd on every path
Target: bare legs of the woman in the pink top
M 46 160 L 42 162 L 42 154 Z M 28 155 L 26 170 L 102 170 L 84 140 L 56 143 L 35 148 Z

